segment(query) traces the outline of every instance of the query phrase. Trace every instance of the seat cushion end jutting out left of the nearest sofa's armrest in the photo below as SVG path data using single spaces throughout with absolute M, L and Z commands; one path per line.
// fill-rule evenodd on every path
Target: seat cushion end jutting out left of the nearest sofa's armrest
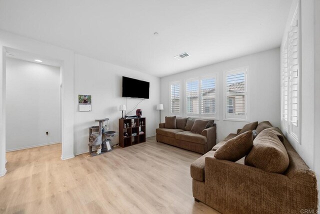
M 204 180 L 204 160 L 205 157 L 211 156 L 213 157 L 214 151 L 208 151 L 196 160 L 191 163 L 190 166 L 190 174 L 191 177 L 195 180 L 203 181 Z

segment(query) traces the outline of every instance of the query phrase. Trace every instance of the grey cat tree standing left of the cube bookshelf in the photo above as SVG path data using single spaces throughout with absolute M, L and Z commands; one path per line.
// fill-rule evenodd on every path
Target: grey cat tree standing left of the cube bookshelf
M 95 119 L 94 121 L 99 122 L 99 125 L 89 127 L 89 152 L 91 156 L 105 153 L 111 150 L 111 139 L 115 131 L 104 131 L 104 128 L 108 129 L 107 121 L 109 118 Z M 106 122 L 106 123 L 105 123 Z M 97 146 L 96 152 L 92 151 L 92 147 Z

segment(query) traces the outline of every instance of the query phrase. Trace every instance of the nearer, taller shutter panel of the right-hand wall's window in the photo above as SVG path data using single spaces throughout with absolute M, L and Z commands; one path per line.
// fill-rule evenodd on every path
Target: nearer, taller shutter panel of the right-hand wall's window
M 289 96 L 289 132 L 298 140 L 298 116 L 299 116 L 299 30 L 298 13 L 292 19 L 291 29 L 288 32 L 288 96 Z

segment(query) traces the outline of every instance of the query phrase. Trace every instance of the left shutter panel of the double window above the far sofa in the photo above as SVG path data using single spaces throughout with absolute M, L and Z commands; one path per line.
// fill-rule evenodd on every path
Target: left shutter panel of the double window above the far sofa
M 199 80 L 186 81 L 186 115 L 199 113 Z

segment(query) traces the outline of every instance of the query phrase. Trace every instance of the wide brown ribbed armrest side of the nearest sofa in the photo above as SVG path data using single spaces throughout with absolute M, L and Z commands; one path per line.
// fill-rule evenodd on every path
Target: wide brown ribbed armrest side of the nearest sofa
M 283 174 L 214 157 L 205 157 L 204 173 L 206 203 L 222 213 L 298 213 L 317 207 L 316 187 Z

